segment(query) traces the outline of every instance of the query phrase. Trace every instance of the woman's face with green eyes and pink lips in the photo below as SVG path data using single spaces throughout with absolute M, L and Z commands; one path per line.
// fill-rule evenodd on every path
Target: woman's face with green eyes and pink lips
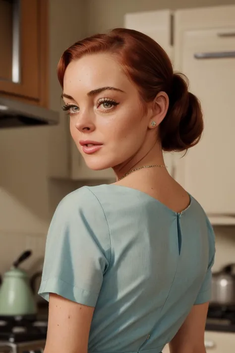
M 149 119 L 115 58 L 93 54 L 72 61 L 63 83 L 63 109 L 87 166 L 101 170 L 131 160 L 144 145 Z

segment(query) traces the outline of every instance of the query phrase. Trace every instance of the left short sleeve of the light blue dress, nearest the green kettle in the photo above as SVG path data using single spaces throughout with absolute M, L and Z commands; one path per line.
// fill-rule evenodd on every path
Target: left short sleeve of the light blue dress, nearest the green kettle
M 87 187 L 67 195 L 57 207 L 46 242 L 39 294 L 56 293 L 95 306 L 111 254 L 103 208 Z

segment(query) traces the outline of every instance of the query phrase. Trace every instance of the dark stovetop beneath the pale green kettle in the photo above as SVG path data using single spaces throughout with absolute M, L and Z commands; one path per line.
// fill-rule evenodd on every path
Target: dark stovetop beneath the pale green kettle
M 0 353 L 42 353 L 48 322 L 36 317 L 0 316 Z

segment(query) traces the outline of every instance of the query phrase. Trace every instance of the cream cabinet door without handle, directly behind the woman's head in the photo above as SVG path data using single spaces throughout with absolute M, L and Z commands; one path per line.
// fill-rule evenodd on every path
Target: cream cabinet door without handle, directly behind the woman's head
M 167 52 L 170 59 L 174 61 L 172 23 L 173 11 L 168 9 L 127 13 L 124 18 L 125 28 L 134 29 L 153 38 Z M 164 160 L 169 173 L 172 174 L 173 154 L 164 153 Z

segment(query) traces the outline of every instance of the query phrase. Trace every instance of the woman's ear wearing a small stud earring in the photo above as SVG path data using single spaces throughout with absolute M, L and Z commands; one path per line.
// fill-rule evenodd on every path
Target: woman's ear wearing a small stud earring
M 169 97 L 167 93 L 163 91 L 159 92 L 152 104 L 152 114 L 148 125 L 149 129 L 154 129 L 159 126 L 165 118 L 169 108 Z

